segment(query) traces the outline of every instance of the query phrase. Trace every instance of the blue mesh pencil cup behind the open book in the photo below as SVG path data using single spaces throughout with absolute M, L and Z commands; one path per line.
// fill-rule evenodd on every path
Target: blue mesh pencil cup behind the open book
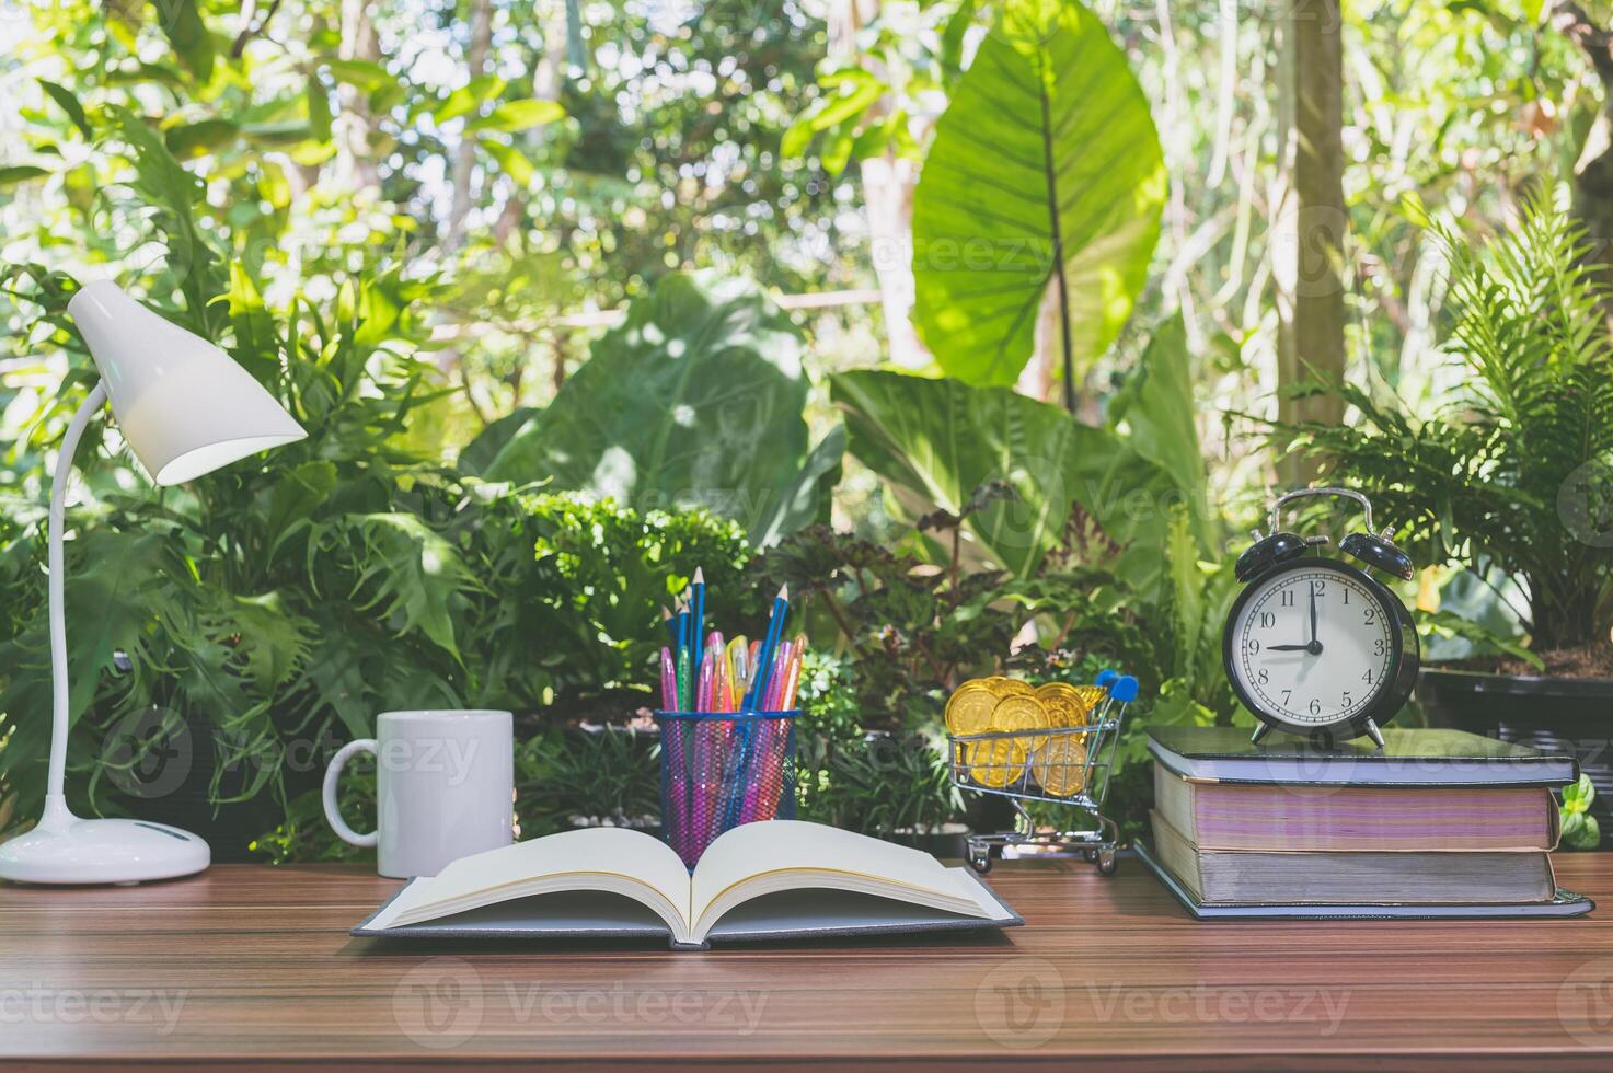
M 689 868 L 742 823 L 795 818 L 798 712 L 656 712 L 661 829 Z

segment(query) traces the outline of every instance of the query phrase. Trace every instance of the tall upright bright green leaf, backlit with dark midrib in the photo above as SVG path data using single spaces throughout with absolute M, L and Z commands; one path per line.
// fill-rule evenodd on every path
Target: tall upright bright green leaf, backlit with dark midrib
M 1008 0 L 913 198 L 916 323 L 940 368 L 1013 384 L 1050 289 L 1066 376 L 1102 353 L 1142 290 L 1165 184 L 1148 102 L 1097 16 Z

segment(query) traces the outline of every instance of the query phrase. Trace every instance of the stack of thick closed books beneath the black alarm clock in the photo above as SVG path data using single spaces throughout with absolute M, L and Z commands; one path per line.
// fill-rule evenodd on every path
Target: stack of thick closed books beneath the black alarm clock
M 1574 916 L 1555 787 L 1571 757 L 1442 729 L 1316 749 L 1248 731 L 1150 734 L 1153 842 L 1139 855 L 1200 918 Z

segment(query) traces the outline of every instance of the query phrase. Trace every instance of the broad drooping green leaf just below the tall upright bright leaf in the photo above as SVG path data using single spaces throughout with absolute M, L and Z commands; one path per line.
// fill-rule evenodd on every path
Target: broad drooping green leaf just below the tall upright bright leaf
M 960 513 L 976 487 L 1008 481 L 1018 502 L 992 503 L 965 523 L 976 562 L 1034 574 L 1063 536 L 1071 507 L 1124 545 L 1127 574 L 1158 578 L 1173 502 L 1169 474 L 1118 434 L 1007 387 L 897 373 L 831 378 L 848 450 L 886 481 L 902 513 Z

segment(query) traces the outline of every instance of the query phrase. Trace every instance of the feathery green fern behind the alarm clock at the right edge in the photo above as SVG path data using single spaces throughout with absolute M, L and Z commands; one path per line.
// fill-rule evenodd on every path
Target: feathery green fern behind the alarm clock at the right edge
M 1608 295 L 1563 202 L 1532 197 L 1484 250 L 1429 224 L 1450 271 L 1445 349 L 1461 378 L 1432 416 L 1355 384 L 1313 386 L 1339 392 L 1360 421 L 1274 437 L 1368 489 L 1415 558 L 1523 582 L 1536 652 L 1607 645 L 1613 623 Z

